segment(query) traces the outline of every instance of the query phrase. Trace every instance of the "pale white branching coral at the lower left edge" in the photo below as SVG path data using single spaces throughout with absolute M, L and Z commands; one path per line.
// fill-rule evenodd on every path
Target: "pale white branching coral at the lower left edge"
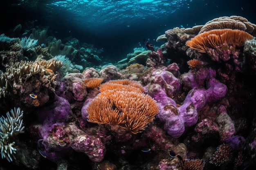
M 23 126 L 23 111 L 20 108 L 14 108 L 11 113 L 6 113 L 7 117 L 0 117 L 0 152 L 2 159 L 7 159 L 9 162 L 16 159 L 15 137 L 24 133 Z

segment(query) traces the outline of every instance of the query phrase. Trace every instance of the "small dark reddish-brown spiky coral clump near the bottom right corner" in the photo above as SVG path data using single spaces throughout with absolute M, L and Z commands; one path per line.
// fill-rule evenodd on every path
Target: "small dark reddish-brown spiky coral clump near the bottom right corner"
M 221 144 L 218 146 L 216 152 L 213 153 L 213 156 L 210 157 L 209 163 L 220 166 L 222 163 L 229 161 L 231 157 L 231 147 L 227 144 Z

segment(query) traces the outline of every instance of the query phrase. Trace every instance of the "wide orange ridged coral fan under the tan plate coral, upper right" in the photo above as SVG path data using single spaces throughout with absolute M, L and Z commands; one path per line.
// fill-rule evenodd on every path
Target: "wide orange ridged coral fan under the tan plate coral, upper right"
M 186 45 L 196 49 L 201 53 L 206 53 L 207 48 L 213 48 L 221 44 L 231 44 L 233 46 L 242 46 L 245 40 L 252 40 L 253 36 L 241 30 L 233 29 L 214 29 L 196 35 L 186 42 Z

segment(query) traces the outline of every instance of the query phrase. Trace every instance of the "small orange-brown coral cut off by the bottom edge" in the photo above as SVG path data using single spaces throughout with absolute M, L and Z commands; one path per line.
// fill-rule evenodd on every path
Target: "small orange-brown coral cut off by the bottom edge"
M 205 162 L 202 159 L 186 159 L 182 170 L 203 170 Z

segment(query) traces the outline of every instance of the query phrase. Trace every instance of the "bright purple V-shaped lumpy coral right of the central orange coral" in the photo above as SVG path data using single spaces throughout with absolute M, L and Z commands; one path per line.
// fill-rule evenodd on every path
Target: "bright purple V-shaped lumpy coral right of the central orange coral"
M 173 92 L 180 87 L 178 79 L 166 71 L 154 71 L 151 81 L 146 86 L 148 94 L 157 100 L 160 113 L 157 118 L 165 122 L 164 129 L 172 137 L 180 137 L 185 127 L 193 126 L 198 121 L 198 111 L 202 109 L 207 102 L 212 102 L 224 97 L 227 93 L 227 86 L 220 83 L 213 76 L 215 71 L 205 69 L 203 72 L 189 72 L 187 79 L 183 79 L 191 89 L 186 96 L 184 103 L 176 106 L 176 102 L 171 98 Z M 167 80 L 167 81 L 166 81 Z M 189 80 L 189 83 L 184 81 Z M 204 82 L 204 83 L 203 83 Z M 207 84 L 203 89 L 203 84 Z M 202 89 L 196 89 L 201 87 Z M 170 96 L 170 97 L 169 97 Z

